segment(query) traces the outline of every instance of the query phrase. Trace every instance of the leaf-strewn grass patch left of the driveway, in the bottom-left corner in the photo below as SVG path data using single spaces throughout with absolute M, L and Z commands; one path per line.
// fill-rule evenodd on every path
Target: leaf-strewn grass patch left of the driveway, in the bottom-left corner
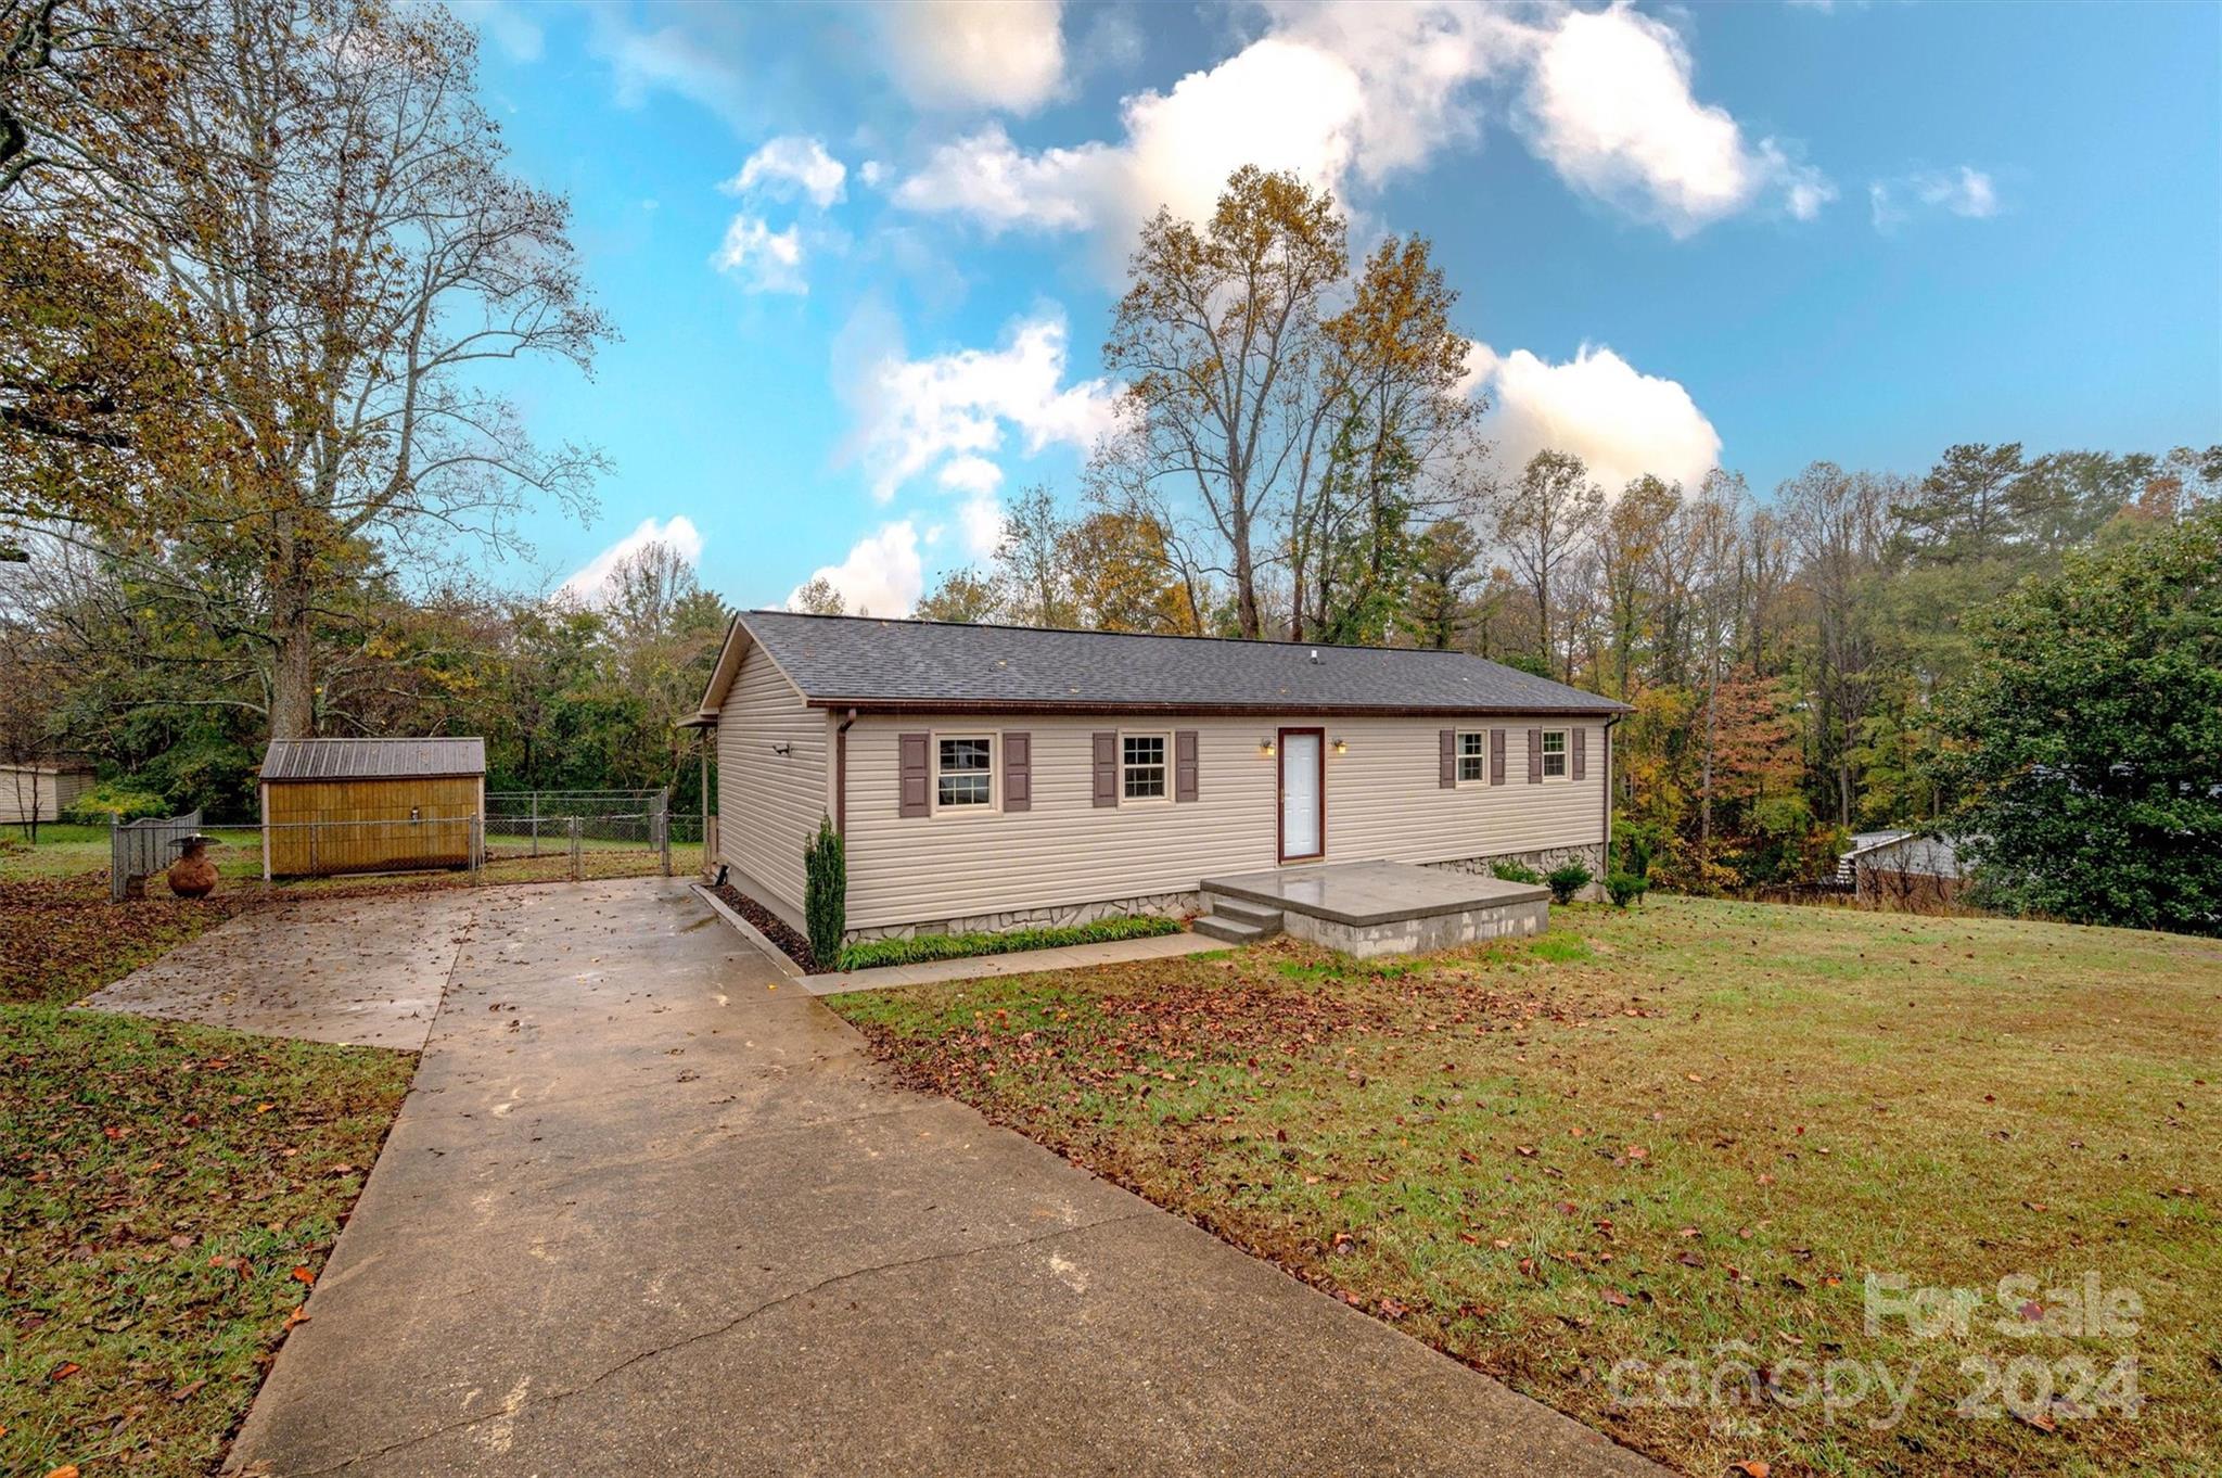
M 413 1062 L 0 1007 L 0 1471 L 213 1471 Z

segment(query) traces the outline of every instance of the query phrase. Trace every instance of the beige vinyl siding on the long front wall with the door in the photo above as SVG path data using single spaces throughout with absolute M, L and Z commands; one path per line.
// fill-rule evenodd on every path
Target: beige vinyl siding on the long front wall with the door
M 1258 745 L 1282 727 L 1327 736 L 1327 862 L 1449 862 L 1604 838 L 1598 720 L 867 716 L 849 731 L 849 925 L 1107 902 L 1275 867 L 1280 760 Z M 1507 731 L 1504 785 L 1442 789 L 1438 736 L 1458 727 Z M 1589 729 L 1587 776 L 1529 785 L 1531 727 Z M 1175 729 L 1198 733 L 1193 802 L 1091 805 L 1091 733 Z M 1033 809 L 898 816 L 895 736 L 982 731 L 1033 736 Z M 1338 738 L 1347 753 L 1333 751 Z

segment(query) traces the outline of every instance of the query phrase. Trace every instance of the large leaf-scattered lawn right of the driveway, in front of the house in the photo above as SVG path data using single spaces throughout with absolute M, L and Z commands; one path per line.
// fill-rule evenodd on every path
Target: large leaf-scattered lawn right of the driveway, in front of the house
M 2222 1467 L 2213 940 L 1653 898 L 1375 967 L 1282 940 L 831 1005 L 1689 1474 Z M 1871 1334 L 1869 1274 L 1984 1302 Z M 2073 1334 L 2086 1276 L 2142 1300 L 2133 1336 Z

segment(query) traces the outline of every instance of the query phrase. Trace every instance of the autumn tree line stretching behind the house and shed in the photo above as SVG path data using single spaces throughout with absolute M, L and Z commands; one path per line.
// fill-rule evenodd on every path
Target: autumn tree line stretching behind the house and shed
M 604 471 L 504 373 L 587 371 L 615 329 L 569 202 L 509 169 L 471 27 L 376 0 L 0 20 L 0 749 L 216 816 L 251 809 L 269 738 L 311 733 L 484 733 L 500 789 L 689 785 L 671 720 L 724 611 L 684 560 L 640 551 L 584 598 L 484 576 Z M 1813 878 L 1849 829 L 1966 827 L 2031 776 L 2064 778 L 2055 811 L 2122 791 L 2109 878 L 2222 856 L 2198 780 L 2222 773 L 2198 707 L 2222 449 L 1600 487 L 1567 449 L 1502 465 L 1455 324 L 1427 238 L 1353 253 L 1293 176 L 1160 211 L 1102 344 L 1118 429 L 918 613 L 1460 649 L 1624 698 L 1620 836 L 1682 887 Z M 2189 662 L 2166 702 L 2118 685 L 2091 725 L 2144 753 L 2131 709 L 2189 696 L 2146 745 L 2166 765 L 2071 762 L 2080 713 L 2011 711 L 2015 653 L 2091 647 L 2046 589 L 2175 622 L 2151 627 Z M 2022 736 L 2018 769 L 1984 769 L 1984 725 Z

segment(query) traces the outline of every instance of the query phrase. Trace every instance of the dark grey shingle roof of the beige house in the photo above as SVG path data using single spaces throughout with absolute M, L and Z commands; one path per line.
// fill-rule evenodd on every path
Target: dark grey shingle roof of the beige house
M 1624 705 L 1458 651 L 1044 631 L 747 611 L 802 696 L 838 707 L 1615 713 Z

